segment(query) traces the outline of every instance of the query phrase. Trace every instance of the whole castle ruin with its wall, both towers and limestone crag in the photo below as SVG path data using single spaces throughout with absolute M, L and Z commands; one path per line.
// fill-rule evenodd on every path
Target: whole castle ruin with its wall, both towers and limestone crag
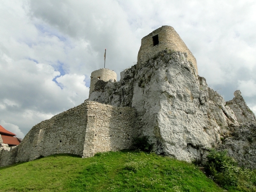
M 256 122 L 240 92 L 226 103 L 198 76 L 195 57 L 171 26 L 145 36 L 137 65 L 120 77 L 93 71 L 89 98 L 35 125 L 20 145 L 0 148 L 0 166 L 61 153 L 92 157 L 131 148 L 132 138 L 141 136 L 157 154 L 191 162 L 245 120 Z

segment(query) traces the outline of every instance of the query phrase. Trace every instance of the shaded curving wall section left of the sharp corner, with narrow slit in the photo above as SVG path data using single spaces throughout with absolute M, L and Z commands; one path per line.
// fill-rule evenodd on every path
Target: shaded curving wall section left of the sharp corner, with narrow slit
M 15 162 L 61 153 L 82 156 L 86 124 L 87 103 L 38 123 L 18 146 Z

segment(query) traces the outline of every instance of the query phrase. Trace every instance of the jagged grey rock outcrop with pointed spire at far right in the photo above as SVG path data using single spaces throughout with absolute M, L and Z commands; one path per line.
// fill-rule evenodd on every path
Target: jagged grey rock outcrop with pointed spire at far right
M 234 96 L 235 97 L 231 101 L 226 102 L 226 104 L 234 111 L 237 121 L 239 123 L 256 123 L 256 117 L 246 105 L 244 98 L 241 96 L 241 91 L 236 90 Z

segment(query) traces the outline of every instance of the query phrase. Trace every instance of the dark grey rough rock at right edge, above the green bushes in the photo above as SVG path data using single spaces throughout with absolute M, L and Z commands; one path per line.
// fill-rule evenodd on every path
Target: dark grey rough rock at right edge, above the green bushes
M 245 123 L 234 128 L 218 150 L 227 150 L 239 166 L 256 169 L 256 124 Z

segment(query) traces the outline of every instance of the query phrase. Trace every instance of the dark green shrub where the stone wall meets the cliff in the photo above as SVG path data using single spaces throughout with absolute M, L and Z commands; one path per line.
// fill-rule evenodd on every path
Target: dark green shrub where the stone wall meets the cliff
M 153 151 L 153 147 L 154 147 L 154 144 L 149 142 L 148 136 L 133 138 L 133 148 L 137 150 L 151 152 Z

